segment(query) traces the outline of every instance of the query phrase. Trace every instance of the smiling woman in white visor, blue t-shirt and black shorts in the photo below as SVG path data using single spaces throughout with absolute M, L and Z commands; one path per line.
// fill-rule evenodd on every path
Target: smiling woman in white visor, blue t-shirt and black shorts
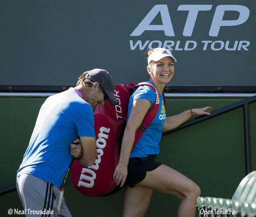
M 190 109 L 178 115 L 165 117 L 162 92 L 165 84 L 173 77 L 174 62 L 176 59 L 168 49 L 156 48 L 148 51 L 148 82 L 159 92 L 160 106 L 156 117 L 133 149 L 136 130 L 154 103 L 155 93 L 150 87 L 140 86 L 130 97 L 120 160 L 113 175 L 117 185 L 125 185 L 123 217 L 144 216 L 153 190 L 172 194 L 181 199 L 178 217 L 192 217 L 196 213 L 196 198 L 201 193 L 199 186 L 180 172 L 154 161 L 159 154 L 162 132 L 177 128 L 191 116 L 210 115 L 212 109 Z

